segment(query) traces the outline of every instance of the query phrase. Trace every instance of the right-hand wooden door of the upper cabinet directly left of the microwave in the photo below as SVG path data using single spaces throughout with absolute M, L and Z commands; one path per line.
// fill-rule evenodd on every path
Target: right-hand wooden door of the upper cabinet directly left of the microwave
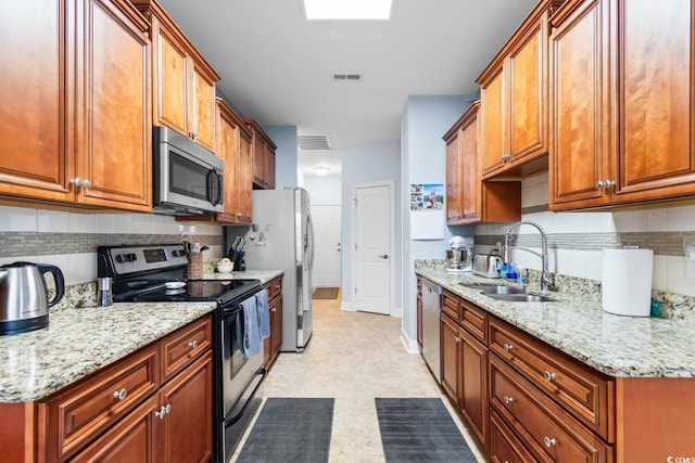
M 81 0 L 80 2 L 81 3 Z M 124 10 L 122 10 L 124 8 Z M 135 9 L 85 0 L 77 40 L 79 203 L 149 211 L 152 206 L 150 41 Z M 137 18 L 137 17 L 136 17 Z M 84 101 L 81 100 L 84 99 Z M 89 184 L 87 184 L 89 182 Z

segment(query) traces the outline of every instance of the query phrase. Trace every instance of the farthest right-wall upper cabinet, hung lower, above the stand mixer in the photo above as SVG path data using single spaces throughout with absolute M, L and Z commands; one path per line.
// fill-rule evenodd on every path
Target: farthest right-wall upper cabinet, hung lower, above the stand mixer
M 521 218 L 520 182 L 482 180 L 479 111 L 480 102 L 475 102 L 444 134 L 446 223 L 450 226 Z

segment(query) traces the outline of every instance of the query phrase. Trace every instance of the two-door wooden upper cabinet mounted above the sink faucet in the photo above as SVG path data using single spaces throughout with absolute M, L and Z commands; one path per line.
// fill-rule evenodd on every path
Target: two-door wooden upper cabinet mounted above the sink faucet
M 560 3 L 541 1 L 478 78 L 484 179 L 547 168 L 548 17 Z

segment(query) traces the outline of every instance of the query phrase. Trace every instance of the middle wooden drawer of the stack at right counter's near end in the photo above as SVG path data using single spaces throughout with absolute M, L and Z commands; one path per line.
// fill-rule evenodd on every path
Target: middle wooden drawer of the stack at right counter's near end
M 495 356 L 491 406 L 541 461 L 610 462 L 612 448 Z

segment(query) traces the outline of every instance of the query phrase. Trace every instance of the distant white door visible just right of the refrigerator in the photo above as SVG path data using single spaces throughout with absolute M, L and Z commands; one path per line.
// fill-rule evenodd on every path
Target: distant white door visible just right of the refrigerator
M 316 233 L 316 259 L 312 272 L 314 286 L 340 287 L 341 274 L 341 206 L 312 206 Z

